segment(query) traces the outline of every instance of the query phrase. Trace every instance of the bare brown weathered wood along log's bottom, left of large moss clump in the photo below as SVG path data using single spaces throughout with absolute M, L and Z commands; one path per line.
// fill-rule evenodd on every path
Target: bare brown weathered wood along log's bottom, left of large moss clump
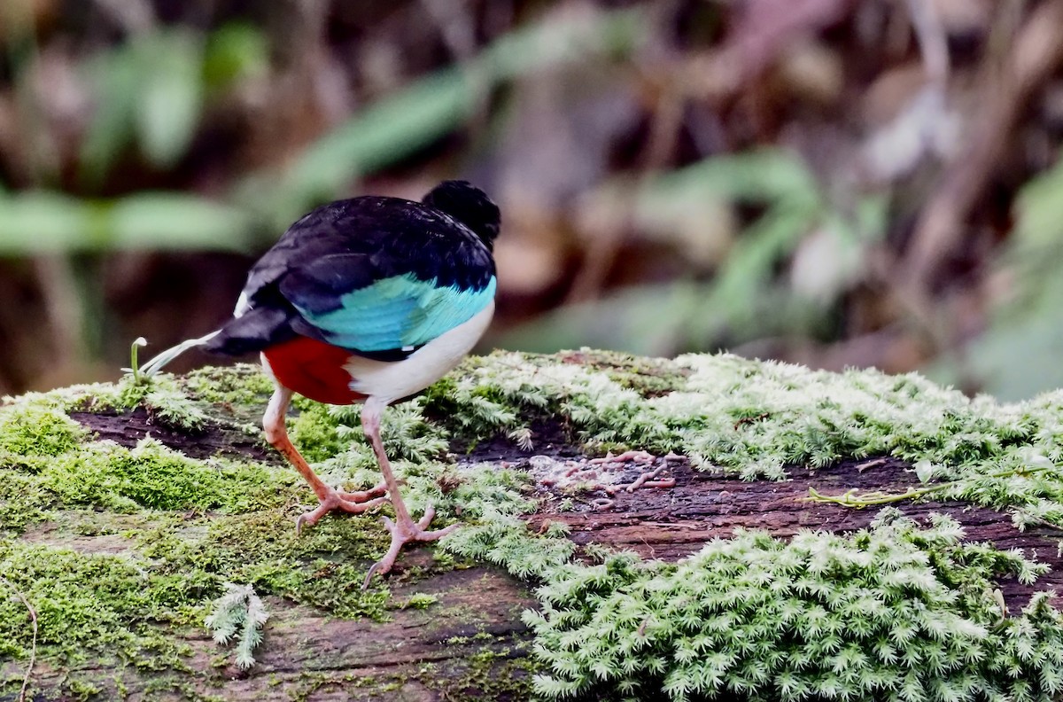
M 109 541 L 99 545 L 100 552 L 116 552 Z M 86 548 L 85 542 L 71 546 Z M 424 565 L 426 559 L 423 550 L 411 551 L 404 565 Z M 414 591 L 409 586 L 393 588 L 398 599 Z M 206 631 L 191 629 L 179 632 L 193 651 L 186 662 L 190 676 L 159 676 L 116 667 L 120 666 L 116 661 L 96 659 L 62 670 L 38 666 L 34 687 L 45 690 L 40 699 L 56 699 L 47 690 L 60 689 L 73 674 L 92 681 L 98 699 L 105 700 L 210 695 L 223 700 L 321 701 L 526 697 L 528 673 L 512 662 L 527 655 L 528 636 L 520 613 L 533 601 L 519 583 L 489 569 L 470 568 L 421 581 L 416 591 L 439 600 L 429 609 L 398 609 L 387 622 L 332 618 L 268 597 L 269 624 L 256 651 L 257 662 L 248 671 L 224 665 Z M 4 666 L 0 672 L 10 675 L 14 668 Z

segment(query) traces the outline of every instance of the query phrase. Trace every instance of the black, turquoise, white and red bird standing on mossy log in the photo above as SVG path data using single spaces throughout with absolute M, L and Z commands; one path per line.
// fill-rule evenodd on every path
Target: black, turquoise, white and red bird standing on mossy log
M 420 202 L 362 196 L 317 207 L 296 221 L 248 273 L 233 317 L 220 329 L 145 364 L 151 375 L 184 351 L 224 356 L 257 352 L 274 385 L 263 417 L 267 441 L 306 480 L 318 506 L 297 533 L 331 512 L 362 513 L 390 502 L 391 544 L 366 576 L 387 573 L 402 548 L 433 541 L 456 524 L 414 519 L 384 451 L 385 408 L 411 398 L 472 350 L 494 313 L 497 205 L 467 181 L 443 181 Z M 383 482 L 345 492 L 325 484 L 288 437 L 293 395 L 361 404 L 361 427 Z

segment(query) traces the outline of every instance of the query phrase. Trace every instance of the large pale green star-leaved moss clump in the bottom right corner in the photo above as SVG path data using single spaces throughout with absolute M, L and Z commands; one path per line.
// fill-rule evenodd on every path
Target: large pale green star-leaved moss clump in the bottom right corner
M 993 578 L 1043 572 L 887 511 L 842 537 L 716 539 L 677 565 L 569 566 L 526 621 L 547 697 L 1043 700 L 1063 691 L 1063 616 L 1040 594 L 1007 619 Z

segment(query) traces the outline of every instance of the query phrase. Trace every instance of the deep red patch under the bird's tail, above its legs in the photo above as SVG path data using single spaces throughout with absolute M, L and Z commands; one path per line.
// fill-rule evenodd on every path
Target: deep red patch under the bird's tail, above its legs
M 351 374 L 343 368 L 351 352 L 345 349 L 297 336 L 263 354 L 277 382 L 304 397 L 327 404 L 354 404 L 366 399 L 351 389 Z

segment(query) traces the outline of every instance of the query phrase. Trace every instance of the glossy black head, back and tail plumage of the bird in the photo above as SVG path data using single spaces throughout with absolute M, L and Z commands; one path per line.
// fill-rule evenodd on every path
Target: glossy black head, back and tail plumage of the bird
M 424 202 L 359 197 L 322 205 L 288 228 L 255 263 L 237 316 L 205 348 L 240 355 L 298 334 L 327 340 L 297 306 L 327 314 L 342 304 L 344 294 L 396 275 L 434 281 L 437 287 L 483 289 L 494 277 L 491 245 L 497 231 L 497 207 L 460 181 L 440 184 Z M 351 350 L 383 360 L 409 353 Z

